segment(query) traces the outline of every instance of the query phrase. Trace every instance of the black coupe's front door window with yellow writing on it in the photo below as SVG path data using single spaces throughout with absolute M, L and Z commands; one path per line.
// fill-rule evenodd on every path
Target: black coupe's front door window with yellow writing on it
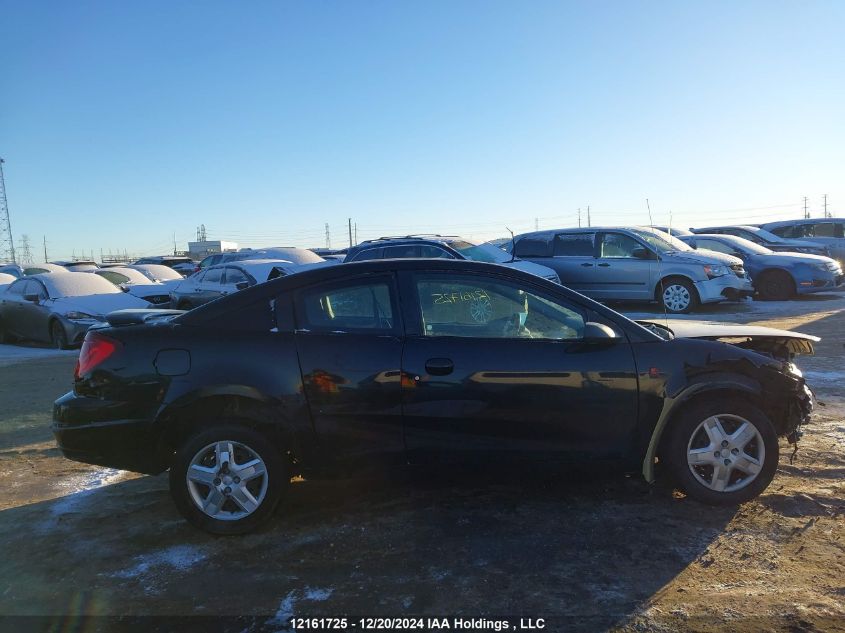
M 518 283 L 482 275 L 417 275 L 424 336 L 576 340 L 584 316 L 575 306 Z

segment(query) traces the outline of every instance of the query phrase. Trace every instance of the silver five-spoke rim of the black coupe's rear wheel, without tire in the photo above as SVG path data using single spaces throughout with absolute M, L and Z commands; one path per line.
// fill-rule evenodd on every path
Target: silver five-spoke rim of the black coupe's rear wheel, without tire
M 231 440 L 197 451 L 185 479 L 196 507 L 221 521 L 237 521 L 255 512 L 267 496 L 270 481 L 261 456 Z

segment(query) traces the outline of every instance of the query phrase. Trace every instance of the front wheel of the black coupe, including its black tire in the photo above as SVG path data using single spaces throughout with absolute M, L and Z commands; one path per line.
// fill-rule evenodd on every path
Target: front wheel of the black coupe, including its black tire
M 736 505 L 758 496 L 778 464 L 769 418 L 740 400 L 692 405 L 675 420 L 664 457 L 675 483 L 708 505 Z

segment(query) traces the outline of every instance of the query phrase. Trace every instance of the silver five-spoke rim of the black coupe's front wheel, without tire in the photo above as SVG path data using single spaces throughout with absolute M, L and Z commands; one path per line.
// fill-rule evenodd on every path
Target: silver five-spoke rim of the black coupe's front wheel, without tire
M 760 474 L 765 460 L 763 437 L 738 415 L 710 416 L 695 428 L 687 445 L 693 476 L 716 492 L 745 488 Z

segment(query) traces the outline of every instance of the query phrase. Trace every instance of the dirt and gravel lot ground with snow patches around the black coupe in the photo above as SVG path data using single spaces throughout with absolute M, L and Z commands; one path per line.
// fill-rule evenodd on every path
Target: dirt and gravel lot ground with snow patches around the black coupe
M 754 502 L 713 509 L 595 470 L 479 481 L 409 469 L 298 482 L 267 528 L 240 538 L 188 527 L 166 476 L 64 460 L 50 407 L 74 355 L 0 346 L 0 616 L 48 616 L 0 627 L 248 615 L 231 630 L 277 631 L 290 615 L 448 614 L 545 617 L 547 630 L 845 630 L 845 295 L 693 318 L 823 339 L 799 361 L 820 400 L 813 424 L 794 463 L 782 445 Z

